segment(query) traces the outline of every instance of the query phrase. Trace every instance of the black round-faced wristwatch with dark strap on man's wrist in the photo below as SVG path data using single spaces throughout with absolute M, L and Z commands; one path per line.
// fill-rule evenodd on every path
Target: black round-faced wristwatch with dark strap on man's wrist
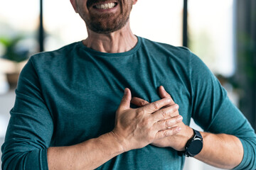
M 199 154 L 203 149 L 203 137 L 200 132 L 194 130 L 193 137 L 188 140 L 185 146 L 185 150 L 178 152 L 179 156 L 185 155 L 186 157 L 194 157 L 196 154 Z

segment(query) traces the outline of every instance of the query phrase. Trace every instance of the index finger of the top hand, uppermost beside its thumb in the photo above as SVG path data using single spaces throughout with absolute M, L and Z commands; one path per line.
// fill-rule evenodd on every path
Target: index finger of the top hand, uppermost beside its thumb
M 141 109 L 144 109 L 145 113 L 154 113 L 164 106 L 168 106 L 171 103 L 171 98 L 162 98 L 159 101 L 154 101 L 152 103 L 143 106 Z

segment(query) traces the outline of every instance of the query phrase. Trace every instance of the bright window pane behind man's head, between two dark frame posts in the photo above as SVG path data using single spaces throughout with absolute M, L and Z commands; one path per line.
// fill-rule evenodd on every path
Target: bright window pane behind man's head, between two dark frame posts
M 43 0 L 45 50 L 55 50 L 87 37 L 84 21 L 70 1 Z M 61 6 L 60 6 L 61 4 Z M 171 45 L 182 45 L 183 1 L 140 0 L 133 6 L 130 23 L 134 34 Z

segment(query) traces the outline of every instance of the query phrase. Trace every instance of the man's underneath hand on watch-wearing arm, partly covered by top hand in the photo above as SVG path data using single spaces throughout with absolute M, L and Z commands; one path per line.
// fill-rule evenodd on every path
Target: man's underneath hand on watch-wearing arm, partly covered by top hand
M 171 99 L 171 103 L 169 103 L 169 105 L 166 105 L 165 109 L 176 105 L 176 103 L 174 103 L 174 100 L 171 98 L 171 96 L 164 90 L 163 86 L 159 87 L 159 95 L 161 98 Z M 131 102 L 139 107 L 149 105 L 148 101 L 144 101 L 142 98 L 137 98 L 137 97 L 133 97 Z M 177 110 L 172 114 L 170 114 L 169 118 L 178 118 L 178 116 L 181 116 L 181 115 L 179 115 Z M 181 120 L 182 120 L 182 117 L 181 117 Z M 170 135 L 168 137 L 156 139 L 151 144 L 155 145 L 156 147 L 172 147 L 178 151 L 184 150 L 186 142 L 188 142 L 188 140 L 193 136 L 193 130 L 187 125 L 185 125 L 182 121 L 180 123 L 174 124 L 174 126 L 171 128 L 177 128 L 177 127 L 181 129 L 180 132 L 174 135 Z

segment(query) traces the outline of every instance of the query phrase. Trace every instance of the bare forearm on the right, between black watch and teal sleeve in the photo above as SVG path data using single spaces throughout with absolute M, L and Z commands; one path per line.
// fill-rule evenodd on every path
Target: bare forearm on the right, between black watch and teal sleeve
M 233 135 L 201 132 L 203 149 L 196 159 L 222 169 L 233 169 L 242 162 L 242 143 Z

